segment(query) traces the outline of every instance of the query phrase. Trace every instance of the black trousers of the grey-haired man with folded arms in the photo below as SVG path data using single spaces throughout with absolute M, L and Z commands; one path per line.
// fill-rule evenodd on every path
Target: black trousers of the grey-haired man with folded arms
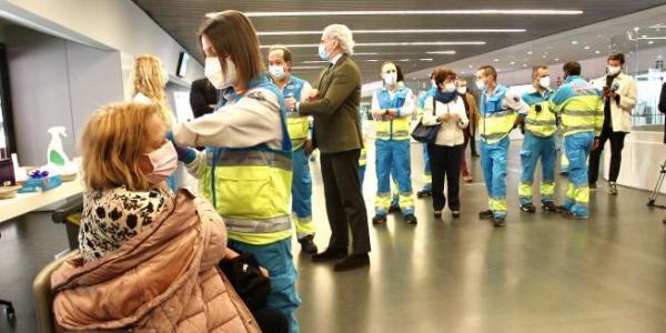
M 370 252 L 367 212 L 359 180 L 360 154 L 360 149 L 321 154 L 326 215 L 331 225 L 329 249 L 349 251 L 351 229 L 353 254 Z

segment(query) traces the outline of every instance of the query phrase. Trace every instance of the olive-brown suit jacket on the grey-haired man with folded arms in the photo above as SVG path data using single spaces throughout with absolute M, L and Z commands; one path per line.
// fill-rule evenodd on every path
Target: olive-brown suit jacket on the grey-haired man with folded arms
M 316 89 L 320 99 L 299 104 L 299 113 L 314 118 L 313 143 L 322 153 L 336 153 L 363 148 L 359 107 L 361 71 L 343 54 L 322 71 Z

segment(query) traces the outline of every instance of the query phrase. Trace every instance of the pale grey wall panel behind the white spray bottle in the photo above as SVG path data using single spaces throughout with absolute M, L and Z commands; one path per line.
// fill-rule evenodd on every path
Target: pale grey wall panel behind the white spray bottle
M 77 155 L 75 139 L 88 115 L 123 99 L 120 54 L 43 34 L 7 28 L 12 114 L 19 162 L 47 162 L 47 129 L 61 125 L 63 147 Z

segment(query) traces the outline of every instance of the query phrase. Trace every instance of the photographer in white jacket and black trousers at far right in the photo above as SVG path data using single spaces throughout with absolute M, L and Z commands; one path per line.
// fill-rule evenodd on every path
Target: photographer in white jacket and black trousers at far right
M 622 73 L 625 63 L 624 54 L 617 53 L 608 57 L 607 75 L 603 90 L 604 98 L 604 127 L 598 147 L 589 155 L 589 189 L 596 189 L 599 173 L 599 159 L 604 151 L 606 140 L 610 140 L 610 172 L 608 174 L 608 191 L 617 195 L 617 176 L 622 163 L 622 149 L 624 138 L 632 130 L 632 111 L 636 105 L 636 81 Z M 602 78 L 601 80 L 604 80 Z

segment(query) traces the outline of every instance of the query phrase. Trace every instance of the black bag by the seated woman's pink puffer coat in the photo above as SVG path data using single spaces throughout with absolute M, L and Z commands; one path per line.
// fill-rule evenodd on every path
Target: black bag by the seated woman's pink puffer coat
M 271 280 L 261 273 L 259 262 L 252 253 L 241 253 L 232 260 L 220 261 L 218 266 L 250 311 L 266 305 Z

